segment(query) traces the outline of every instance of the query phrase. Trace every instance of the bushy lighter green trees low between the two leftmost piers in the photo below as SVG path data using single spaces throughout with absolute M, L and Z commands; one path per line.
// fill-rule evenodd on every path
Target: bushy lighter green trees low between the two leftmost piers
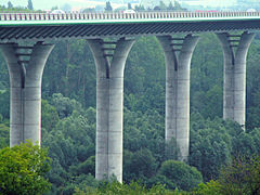
M 49 146 L 53 158 L 53 169 L 49 173 L 53 183 L 51 194 L 69 194 L 90 173 L 94 174 L 94 158 L 91 157 L 95 150 L 94 116 L 95 110 L 91 107 L 82 114 L 74 109 L 42 139 L 42 145 Z

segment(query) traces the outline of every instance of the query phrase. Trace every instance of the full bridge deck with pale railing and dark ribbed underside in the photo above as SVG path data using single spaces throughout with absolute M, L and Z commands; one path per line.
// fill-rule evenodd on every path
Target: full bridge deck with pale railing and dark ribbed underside
M 260 29 L 260 12 L 0 13 L 0 42 Z

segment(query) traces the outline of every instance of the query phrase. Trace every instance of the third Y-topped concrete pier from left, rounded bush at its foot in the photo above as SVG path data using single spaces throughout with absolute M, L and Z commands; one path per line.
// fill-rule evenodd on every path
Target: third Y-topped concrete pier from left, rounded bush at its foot
M 174 138 L 180 150 L 178 160 L 185 161 L 190 144 L 190 69 L 198 37 L 157 38 L 166 60 L 166 142 Z

